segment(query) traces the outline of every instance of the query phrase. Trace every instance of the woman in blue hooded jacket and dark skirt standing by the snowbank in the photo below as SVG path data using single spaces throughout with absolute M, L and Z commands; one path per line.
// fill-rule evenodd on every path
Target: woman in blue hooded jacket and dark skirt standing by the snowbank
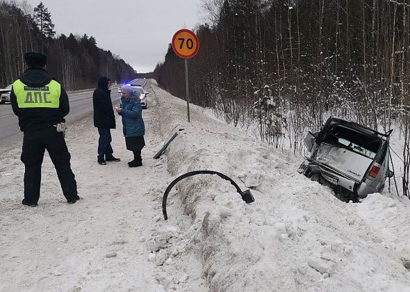
M 145 124 L 142 120 L 142 107 L 138 92 L 131 86 L 121 87 L 120 107 L 115 111 L 122 117 L 122 132 L 126 149 L 133 152 L 134 159 L 128 163 L 130 168 L 142 166 L 141 150 L 145 146 Z

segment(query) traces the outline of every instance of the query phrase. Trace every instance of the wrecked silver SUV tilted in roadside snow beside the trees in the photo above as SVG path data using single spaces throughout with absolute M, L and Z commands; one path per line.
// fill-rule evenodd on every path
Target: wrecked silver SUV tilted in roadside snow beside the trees
M 388 168 L 389 136 L 354 122 L 329 117 L 318 133 L 309 132 L 304 144 L 311 156 L 299 172 L 331 187 L 345 202 L 358 202 L 370 193 L 381 193 Z

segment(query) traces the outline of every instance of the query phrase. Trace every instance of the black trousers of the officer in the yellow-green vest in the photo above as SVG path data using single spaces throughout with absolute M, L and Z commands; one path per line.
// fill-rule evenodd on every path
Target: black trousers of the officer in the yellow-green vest
M 26 168 L 26 172 L 24 172 L 24 200 L 28 203 L 38 202 L 41 165 L 45 149 L 49 152 L 51 161 L 56 168 L 63 195 L 67 201 L 73 200 L 77 196 L 77 183 L 69 163 L 71 155 L 65 144 L 63 133 L 58 133 L 56 127 L 24 133 L 21 157 Z

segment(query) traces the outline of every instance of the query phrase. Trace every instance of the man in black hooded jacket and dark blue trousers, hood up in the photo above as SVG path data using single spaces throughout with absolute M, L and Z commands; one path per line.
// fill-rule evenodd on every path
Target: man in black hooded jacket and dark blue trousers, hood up
M 101 76 L 98 87 L 92 95 L 92 105 L 94 107 L 94 127 L 98 129 L 98 155 L 97 162 L 106 165 L 106 161 L 120 161 L 113 156 L 111 147 L 111 131 L 115 129 L 115 115 L 113 102 L 111 102 L 111 81 L 106 76 Z

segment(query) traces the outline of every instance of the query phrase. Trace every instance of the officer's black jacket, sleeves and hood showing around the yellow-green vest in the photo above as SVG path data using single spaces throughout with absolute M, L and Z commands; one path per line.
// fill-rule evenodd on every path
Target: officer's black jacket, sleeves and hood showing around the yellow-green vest
M 19 76 L 19 79 L 26 86 L 41 87 L 50 83 L 54 78 L 46 70 L 31 67 Z M 24 133 L 53 127 L 58 122 L 65 122 L 64 117 L 69 113 L 68 96 L 63 86 L 61 86 L 59 108 L 19 108 L 13 90 L 10 93 L 10 102 L 13 112 L 19 117 L 19 126 Z

